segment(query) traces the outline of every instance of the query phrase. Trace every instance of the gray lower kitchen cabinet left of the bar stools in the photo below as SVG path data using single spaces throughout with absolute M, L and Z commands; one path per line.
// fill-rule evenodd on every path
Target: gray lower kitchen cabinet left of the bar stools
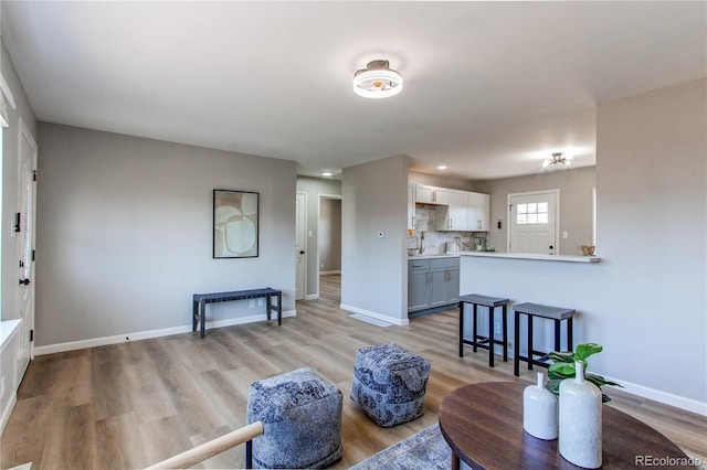
M 458 258 L 408 261 L 408 312 L 456 303 L 458 299 Z

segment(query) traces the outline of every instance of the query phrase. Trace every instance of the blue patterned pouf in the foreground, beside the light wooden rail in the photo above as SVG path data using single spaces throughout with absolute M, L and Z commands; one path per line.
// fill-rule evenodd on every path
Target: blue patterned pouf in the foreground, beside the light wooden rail
M 247 423 L 263 423 L 253 439 L 256 468 L 324 468 L 341 458 L 341 392 L 309 368 L 254 382 Z

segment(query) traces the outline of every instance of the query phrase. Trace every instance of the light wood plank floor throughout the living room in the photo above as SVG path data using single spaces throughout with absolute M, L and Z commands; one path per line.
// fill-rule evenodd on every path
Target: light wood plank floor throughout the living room
M 511 363 L 486 352 L 457 355 L 457 312 L 379 328 L 338 308 L 339 276 L 323 276 L 321 298 L 297 303 L 283 325 L 258 322 L 36 357 L 20 387 L 1 440 L 2 468 L 143 468 L 245 424 L 249 385 L 302 366 L 344 393 L 344 458 L 348 468 L 436 423 L 442 398 L 473 382 L 517 381 Z M 432 363 L 425 414 L 383 429 L 349 399 L 356 350 L 397 342 Z M 530 382 L 525 372 L 521 381 Z M 707 419 L 621 392 L 615 406 L 655 427 L 687 453 L 707 460 Z M 243 447 L 199 468 L 241 468 Z

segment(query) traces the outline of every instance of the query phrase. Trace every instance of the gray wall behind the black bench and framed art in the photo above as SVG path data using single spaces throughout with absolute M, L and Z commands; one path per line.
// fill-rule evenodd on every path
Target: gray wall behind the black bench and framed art
M 191 323 L 191 295 L 271 286 L 294 310 L 295 162 L 40 124 L 36 343 Z M 212 259 L 212 190 L 260 193 L 260 256 Z M 261 314 L 249 302 L 210 319 Z

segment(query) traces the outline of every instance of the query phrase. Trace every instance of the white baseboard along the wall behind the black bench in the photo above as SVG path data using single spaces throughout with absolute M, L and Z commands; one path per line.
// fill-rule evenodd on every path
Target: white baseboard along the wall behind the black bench
M 283 318 L 296 317 L 296 310 L 288 310 L 283 312 Z M 212 328 L 231 327 L 234 324 L 253 323 L 256 321 L 264 321 L 267 317 L 265 313 L 232 318 L 228 320 L 207 321 L 207 330 Z M 35 346 L 34 355 L 53 354 L 57 352 L 83 350 L 86 348 L 105 346 L 107 344 L 117 344 L 128 341 L 147 340 L 150 338 L 170 337 L 172 334 L 190 333 L 191 323 L 181 327 L 163 328 L 161 330 L 138 331 L 135 333 L 116 334 L 113 337 L 93 338 L 89 340 L 71 341 L 67 343 L 49 344 L 45 346 Z

